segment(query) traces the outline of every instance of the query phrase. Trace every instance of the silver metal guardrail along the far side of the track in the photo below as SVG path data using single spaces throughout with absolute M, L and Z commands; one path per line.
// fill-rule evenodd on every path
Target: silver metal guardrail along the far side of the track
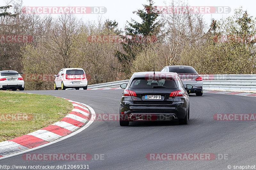
M 204 74 L 203 89 L 216 90 L 256 90 L 256 74 Z M 112 81 L 107 83 L 88 85 L 88 89 L 117 88 L 129 80 Z

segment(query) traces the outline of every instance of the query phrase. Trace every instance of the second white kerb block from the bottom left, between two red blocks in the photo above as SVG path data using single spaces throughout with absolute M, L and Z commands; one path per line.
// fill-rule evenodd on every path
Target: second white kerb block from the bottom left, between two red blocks
M 53 133 L 53 132 L 50 132 L 47 130 L 42 130 L 42 129 L 28 133 L 28 135 L 35 136 L 36 138 L 40 138 L 40 139 L 46 140 L 48 142 L 51 142 L 55 139 L 62 137 L 60 135 L 57 135 L 56 133 Z

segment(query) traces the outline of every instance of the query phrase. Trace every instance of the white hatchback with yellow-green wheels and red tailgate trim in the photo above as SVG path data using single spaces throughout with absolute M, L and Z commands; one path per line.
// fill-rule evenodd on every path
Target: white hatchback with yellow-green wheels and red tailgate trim
M 65 90 L 67 88 L 87 89 L 87 79 L 82 68 L 62 68 L 54 80 L 54 89 Z

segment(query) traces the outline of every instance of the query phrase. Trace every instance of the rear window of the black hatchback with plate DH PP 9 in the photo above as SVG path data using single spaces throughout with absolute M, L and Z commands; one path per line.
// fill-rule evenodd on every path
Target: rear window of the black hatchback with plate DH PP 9
M 130 88 L 136 89 L 154 89 L 154 88 L 164 88 L 164 89 L 175 89 L 177 88 L 177 79 L 174 77 L 136 77 L 132 80 Z

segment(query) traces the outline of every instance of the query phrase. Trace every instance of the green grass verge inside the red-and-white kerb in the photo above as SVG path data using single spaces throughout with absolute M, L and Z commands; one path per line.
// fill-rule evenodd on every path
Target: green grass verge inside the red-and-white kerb
M 0 142 L 42 129 L 65 117 L 72 103 L 65 99 L 0 91 Z

